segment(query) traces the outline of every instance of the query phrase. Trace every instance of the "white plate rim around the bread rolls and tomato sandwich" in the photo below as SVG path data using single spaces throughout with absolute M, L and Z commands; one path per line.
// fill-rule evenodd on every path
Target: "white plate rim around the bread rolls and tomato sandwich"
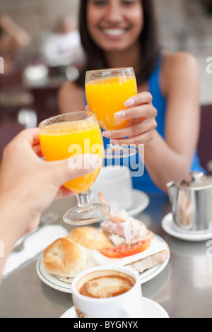
M 155 238 L 161 242 L 165 242 L 158 235 L 155 235 Z M 141 273 L 140 274 L 141 285 L 143 283 L 147 283 L 147 281 L 155 278 L 156 275 L 158 275 L 160 272 L 162 272 L 165 269 L 165 267 L 167 266 L 169 259 L 167 259 L 163 263 L 160 263 L 157 266 L 154 266 L 153 268 L 149 268 L 147 271 L 144 271 L 143 273 Z M 37 260 L 36 271 L 37 271 L 37 275 L 39 276 L 40 280 L 42 280 L 42 282 L 45 283 L 46 285 L 48 285 L 49 287 L 54 288 L 54 290 L 60 290 L 61 292 L 66 292 L 66 293 L 71 294 L 71 292 L 72 292 L 71 284 L 65 283 L 64 281 L 54 278 L 53 275 L 51 275 L 50 273 L 48 273 L 46 271 L 44 263 L 42 261 L 42 254 L 40 255 L 39 259 Z

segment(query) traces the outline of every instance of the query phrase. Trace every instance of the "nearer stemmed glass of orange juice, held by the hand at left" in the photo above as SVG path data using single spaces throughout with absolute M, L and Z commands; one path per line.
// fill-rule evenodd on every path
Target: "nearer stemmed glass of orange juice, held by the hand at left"
M 104 155 L 102 133 L 95 114 L 83 111 L 58 115 L 42 121 L 39 129 L 40 146 L 46 161 L 67 159 L 69 167 L 74 169 L 90 168 L 81 158 L 84 154 L 95 153 L 101 160 L 92 172 L 64 184 L 76 194 L 78 201 L 77 206 L 64 214 L 64 221 L 70 225 L 89 225 L 105 218 L 110 213 L 110 207 L 91 203 L 89 197 L 90 186 L 98 177 Z

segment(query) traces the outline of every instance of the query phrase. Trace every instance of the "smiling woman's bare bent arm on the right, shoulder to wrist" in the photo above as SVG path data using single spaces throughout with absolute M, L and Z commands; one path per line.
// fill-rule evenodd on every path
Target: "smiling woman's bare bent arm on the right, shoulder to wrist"
M 170 57 L 165 70 L 165 140 L 155 132 L 145 146 L 145 165 L 155 184 L 166 191 L 167 182 L 181 179 L 191 170 L 199 139 L 200 107 L 196 60 L 188 54 L 176 54 Z

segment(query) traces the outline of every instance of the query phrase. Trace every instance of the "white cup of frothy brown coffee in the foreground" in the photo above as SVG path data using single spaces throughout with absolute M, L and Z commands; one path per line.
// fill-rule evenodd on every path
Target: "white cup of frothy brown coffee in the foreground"
M 139 274 L 125 266 L 98 266 L 79 273 L 72 283 L 79 318 L 143 318 Z

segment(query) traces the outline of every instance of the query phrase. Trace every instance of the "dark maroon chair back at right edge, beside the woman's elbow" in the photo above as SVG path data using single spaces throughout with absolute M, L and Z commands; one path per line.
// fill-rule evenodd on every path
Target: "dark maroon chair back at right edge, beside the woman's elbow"
M 212 174 L 212 105 L 201 107 L 201 130 L 198 149 L 201 166 L 208 174 Z

